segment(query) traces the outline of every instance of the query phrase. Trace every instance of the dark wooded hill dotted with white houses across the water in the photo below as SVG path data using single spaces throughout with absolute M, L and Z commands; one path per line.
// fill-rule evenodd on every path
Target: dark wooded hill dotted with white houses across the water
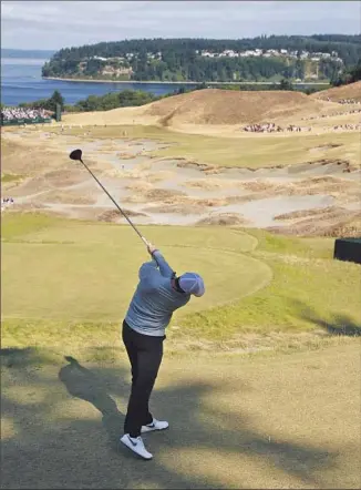
M 45 78 L 162 82 L 329 81 L 361 59 L 361 35 L 133 39 L 64 48 Z

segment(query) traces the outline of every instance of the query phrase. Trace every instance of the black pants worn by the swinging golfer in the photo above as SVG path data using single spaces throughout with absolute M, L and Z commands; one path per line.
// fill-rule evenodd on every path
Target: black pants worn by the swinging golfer
M 123 341 L 132 365 L 132 392 L 127 405 L 124 433 L 141 435 L 142 426 L 152 423 L 149 398 L 163 357 L 163 337 L 142 335 L 123 321 Z

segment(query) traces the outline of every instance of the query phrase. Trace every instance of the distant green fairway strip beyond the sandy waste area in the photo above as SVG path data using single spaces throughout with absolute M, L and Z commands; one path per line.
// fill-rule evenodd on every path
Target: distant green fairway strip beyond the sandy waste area
M 59 132 L 59 129 L 52 129 Z M 83 135 L 79 127 L 66 129 L 66 134 Z M 360 166 L 361 149 L 359 133 L 324 134 L 251 134 L 241 137 L 218 137 L 199 134 L 172 132 L 157 126 L 107 126 L 90 127 L 87 139 L 152 139 L 163 143 L 173 143 L 168 149 L 153 152 L 157 157 L 184 157 L 200 164 L 236 167 L 268 167 L 292 165 L 320 159 L 349 160 Z M 126 132 L 126 136 L 123 136 Z M 337 144 L 338 147 L 314 149 L 321 145 Z

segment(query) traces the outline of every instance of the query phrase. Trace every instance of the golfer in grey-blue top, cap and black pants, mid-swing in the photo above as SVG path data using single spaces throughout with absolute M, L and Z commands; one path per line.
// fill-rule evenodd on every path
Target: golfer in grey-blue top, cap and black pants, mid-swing
M 123 321 L 123 341 L 132 365 L 132 392 L 121 441 L 144 459 L 152 459 L 141 433 L 168 428 L 155 419 L 148 402 L 163 357 L 165 328 L 173 312 L 186 305 L 190 295 L 203 296 L 204 282 L 198 274 L 177 277 L 159 251 L 148 244 L 151 262 L 140 268 L 140 283 Z

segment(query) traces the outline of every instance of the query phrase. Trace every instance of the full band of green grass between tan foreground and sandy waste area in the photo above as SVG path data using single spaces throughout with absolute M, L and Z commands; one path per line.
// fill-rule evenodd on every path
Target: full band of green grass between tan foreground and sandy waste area
M 168 328 L 177 348 L 243 345 L 249 335 L 360 331 L 360 266 L 333 261 L 332 239 L 215 227 L 142 231 L 178 274 L 205 277 L 204 298 L 176 312 Z M 120 347 L 120 323 L 148 258 L 130 227 L 10 215 L 2 241 L 3 346 Z

